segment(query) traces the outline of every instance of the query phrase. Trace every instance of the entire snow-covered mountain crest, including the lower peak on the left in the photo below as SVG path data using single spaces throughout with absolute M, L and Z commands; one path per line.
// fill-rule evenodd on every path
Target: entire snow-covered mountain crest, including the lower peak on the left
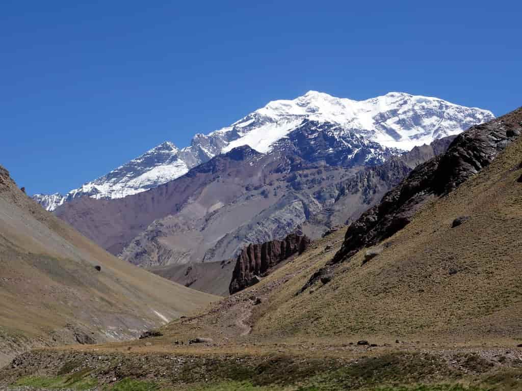
M 213 156 L 241 145 L 268 153 L 277 141 L 298 131 L 304 121 L 313 121 L 316 127 L 318 124 L 329 126 L 332 137 L 342 144 L 357 137 L 358 144 L 362 140 L 400 152 L 456 135 L 493 118 L 490 111 L 459 106 L 435 97 L 390 92 L 354 101 L 309 91 L 294 100 L 269 102 L 234 124 L 208 135 L 197 134 L 191 145 L 181 150 L 171 142 L 164 142 L 66 196 L 35 194 L 33 198 L 49 211 L 81 196 L 123 198 L 176 179 Z M 309 133 L 306 137 L 313 138 Z

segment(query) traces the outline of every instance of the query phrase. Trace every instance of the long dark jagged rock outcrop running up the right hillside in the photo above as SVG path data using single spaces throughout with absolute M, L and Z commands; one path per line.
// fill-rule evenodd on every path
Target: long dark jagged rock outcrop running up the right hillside
M 415 168 L 379 204 L 351 224 L 330 264 L 350 258 L 360 249 L 376 245 L 404 228 L 430 198 L 444 196 L 488 166 L 520 135 L 521 128 L 522 108 L 519 108 L 461 133 L 444 154 Z

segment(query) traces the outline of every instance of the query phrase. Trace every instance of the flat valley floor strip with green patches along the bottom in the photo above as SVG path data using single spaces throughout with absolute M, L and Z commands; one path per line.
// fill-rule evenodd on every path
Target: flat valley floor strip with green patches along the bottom
M 522 349 L 417 342 L 132 344 L 35 350 L 0 371 L 0 389 L 519 390 Z

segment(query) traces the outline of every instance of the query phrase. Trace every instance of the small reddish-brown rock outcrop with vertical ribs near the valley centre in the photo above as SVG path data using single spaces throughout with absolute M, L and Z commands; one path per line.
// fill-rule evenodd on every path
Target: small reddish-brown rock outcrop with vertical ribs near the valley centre
M 278 263 L 304 252 L 310 245 L 305 235 L 290 234 L 282 240 L 271 240 L 260 245 L 248 245 L 238 256 L 230 283 L 230 294 L 253 285 Z

